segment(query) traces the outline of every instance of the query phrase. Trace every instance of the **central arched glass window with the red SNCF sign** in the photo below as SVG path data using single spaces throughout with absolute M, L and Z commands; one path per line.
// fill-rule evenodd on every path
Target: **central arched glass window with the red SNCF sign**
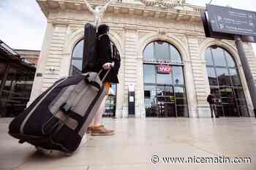
M 170 72 L 160 72 L 167 66 Z M 173 45 L 156 41 L 143 53 L 144 98 L 147 117 L 188 117 L 181 55 Z

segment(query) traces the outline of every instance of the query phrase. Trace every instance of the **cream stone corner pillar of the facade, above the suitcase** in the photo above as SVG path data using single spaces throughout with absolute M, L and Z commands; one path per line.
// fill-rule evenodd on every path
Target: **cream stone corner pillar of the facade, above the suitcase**
M 61 64 L 66 34 L 67 25 L 48 23 L 28 106 L 56 80 L 67 76 L 64 74 L 68 68 Z

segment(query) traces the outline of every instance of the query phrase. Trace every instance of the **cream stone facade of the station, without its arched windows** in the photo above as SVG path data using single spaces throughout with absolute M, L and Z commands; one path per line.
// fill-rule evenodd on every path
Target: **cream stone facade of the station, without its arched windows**
M 85 23 L 93 23 L 93 15 L 83 1 L 37 0 L 48 26 L 40 53 L 37 73 L 31 95 L 33 101 L 60 77 L 69 75 L 72 50 L 83 38 Z M 89 1 L 92 5 L 105 1 Z M 184 3 L 184 1 L 183 1 Z M 243 83 L 249 113 L 252 116 L 252 101 L 246 85 L 241 61 L 233 41 L 206 38 L 200 20 L 203 7 L 179 4 L 176 7 L 151 7 L 138 0 L 115 1 L 105 12 L 102 23 L 110 26 L 110 39 L 121 54 L 118 74 L 116 116 L 128 116 L 128 85 L 135 83 L 135 116 L 145 117 L 143 93 L 143 49 L 149 42 L 164 40 L 174 45 L 184 61 L 184 77 L 189 105 L 189 117 L 209 117 L 206 96 L 208 84 L 204 53 L 211 45 L 228 50 L 236 59 Z M 256 61 L 252 45 L 245 44 L 249 65 L 256 80 Z

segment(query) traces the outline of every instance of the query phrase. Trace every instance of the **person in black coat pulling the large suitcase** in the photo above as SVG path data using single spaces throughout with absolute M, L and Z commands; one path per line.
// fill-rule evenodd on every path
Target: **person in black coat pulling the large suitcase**
M 94 119 L 91 121 L 89 128 L 87 128 L 86 134 L 91 134 L 92 136 L 109 136 L 113 135 L 114 131 L 105 128 L 102 125 L 102 116 L 105 113 L 105 103 L 108 98 L 108 93 L 111 87 L 111 83 L 118 83 L 118 69 L 120 67 L 120 56 L 115 56 L 116 53 L 113 53 L 113 47 L 108 36 L 109 26 L 102 24 L 98 27 L 97 31 L 97 47 L 96 47 L 96 60 L 94 64 L 94 70 L 87 70 L 87 72 L 99 72 L 103 69 L 103 72 L 99 74 L 99 77 L 102 79 L 104 75 L 110 69 L 108 76 L 105 79 L 105 89 L 107 90 L 107 95 L 102 101 L 97 114 Z M 118 52 L 117 52 L 118 54 Z M 118 60 L 119 59 L 119 60 Z M 113 65 L 114 63 L 114 65 Z

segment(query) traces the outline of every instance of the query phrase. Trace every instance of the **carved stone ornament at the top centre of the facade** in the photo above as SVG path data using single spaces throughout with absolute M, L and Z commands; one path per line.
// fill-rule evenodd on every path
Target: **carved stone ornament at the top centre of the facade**
M 186 3 L 186 0 L 140 0 L 146 6 L 155 6 L 155 7 L 176 7 L 183 6 Z

